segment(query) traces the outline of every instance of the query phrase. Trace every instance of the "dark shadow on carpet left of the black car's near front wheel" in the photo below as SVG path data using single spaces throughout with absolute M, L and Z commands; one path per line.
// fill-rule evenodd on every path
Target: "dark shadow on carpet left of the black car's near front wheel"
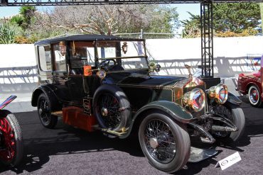
M 58 123 L 58 127 L 49 130 L 39 124 L 36 126 L 36 123 L 22 124 L 22 130 L 25 131 L 23 132 L 23 161 L 16 167 L 6 167 L 0 164 L 0 174 L 5 171 L 13 171 L 16 174 L 33 173 L 41 169 L 43 164 L 48 163 L 52 155 L 118 150 L 135 157 L 144 157 L 139 147 L 139 141 L 134 137 L 125 140 L 108 138 L 98 131 L 86 132 L 69 125 L 63 125 Z M 28 131 L 25 127 L 33 127 L 36 130 Z M 36 132 L 41 132 L 41 135 L 34 137 Z

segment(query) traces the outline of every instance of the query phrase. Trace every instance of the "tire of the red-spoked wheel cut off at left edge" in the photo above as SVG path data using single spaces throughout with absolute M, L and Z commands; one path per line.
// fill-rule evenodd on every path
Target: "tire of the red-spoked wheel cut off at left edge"
M 23 159 L 23 137 L 21 127 L 18 123 L 18 120 L 16 119 L 16 116 L 10 111 L 1 110 L 0 116 L 5 117 L 11 125 L 11 128 L 14 130 L 14 138 L 16 143 L 16 154 L 14 159 L 12 159 L 11 162 L 4 162 L 0 159 L 0 162 L 6 166 L 17 166 Z

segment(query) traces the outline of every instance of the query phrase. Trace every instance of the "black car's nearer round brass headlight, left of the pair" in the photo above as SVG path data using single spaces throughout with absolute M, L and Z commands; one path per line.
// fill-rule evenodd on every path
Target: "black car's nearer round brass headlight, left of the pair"
M 193 89 L 183 95 L 183 104 L 189 106 L 195 112 L 201 111 L 205 106 L 205 93 L 202 89 Z

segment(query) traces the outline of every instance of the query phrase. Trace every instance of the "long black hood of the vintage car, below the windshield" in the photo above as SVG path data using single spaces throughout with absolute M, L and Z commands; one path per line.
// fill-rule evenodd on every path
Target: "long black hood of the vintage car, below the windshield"
M 109 73 L 104 80 L 107 84 L 132 86 L 173 86 L 176 82 L 186 79 L 184 77 L 156 76 L 129 72 Z

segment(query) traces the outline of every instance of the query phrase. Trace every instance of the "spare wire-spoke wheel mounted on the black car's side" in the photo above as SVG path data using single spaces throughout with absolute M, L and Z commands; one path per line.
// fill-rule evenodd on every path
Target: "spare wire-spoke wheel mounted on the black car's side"
M 131 120 L 127 96 L 118 86 L 104 84 L 95 92 L 93 112 L 101 128 L 119 132 Z

